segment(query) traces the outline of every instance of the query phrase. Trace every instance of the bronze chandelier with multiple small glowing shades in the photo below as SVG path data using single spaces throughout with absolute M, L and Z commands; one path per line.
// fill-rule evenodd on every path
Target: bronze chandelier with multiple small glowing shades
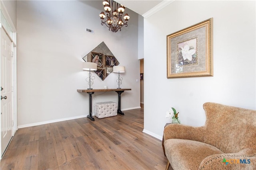
M 108 30 L 111 30 L 114 33 L 119 29 L 121 31 L 122 26 L 128 26 L 127 22 L 130 19 L 128 14 L 124 15 L 125 23 L 122 20 L 125 9 L 123 5 L 118 4 L 113 0 L 104 0 L 102 4 L 104 6 L 104 10 L 106 11 L 106 15 L 104 12 L 100 13 L 101 25 L 107 25 L 107 27 L 109 27 Z M 104 18 L 106 18 L 106 21 L 104 21 Z

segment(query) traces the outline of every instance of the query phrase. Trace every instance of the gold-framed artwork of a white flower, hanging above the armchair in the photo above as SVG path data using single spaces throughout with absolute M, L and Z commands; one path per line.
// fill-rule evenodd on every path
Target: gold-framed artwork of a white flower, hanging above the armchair
M 167 78 L 213 76 L 212 18 L 167 35 Z

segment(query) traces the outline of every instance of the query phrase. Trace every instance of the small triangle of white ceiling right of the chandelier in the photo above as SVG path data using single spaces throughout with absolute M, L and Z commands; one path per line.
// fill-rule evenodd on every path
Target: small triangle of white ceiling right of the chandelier
M 143 16 L 155 6 L 159 5 L 163 0 L 115 0 L 119 4 L 124 5 L 130 10 Z

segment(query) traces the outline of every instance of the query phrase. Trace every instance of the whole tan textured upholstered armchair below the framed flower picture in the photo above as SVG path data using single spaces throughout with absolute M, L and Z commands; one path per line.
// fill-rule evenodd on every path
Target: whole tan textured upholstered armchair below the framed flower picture
M 256 110 L 205 103 L 202 127 L 164 128 L 166 169 L 256 170 Z

